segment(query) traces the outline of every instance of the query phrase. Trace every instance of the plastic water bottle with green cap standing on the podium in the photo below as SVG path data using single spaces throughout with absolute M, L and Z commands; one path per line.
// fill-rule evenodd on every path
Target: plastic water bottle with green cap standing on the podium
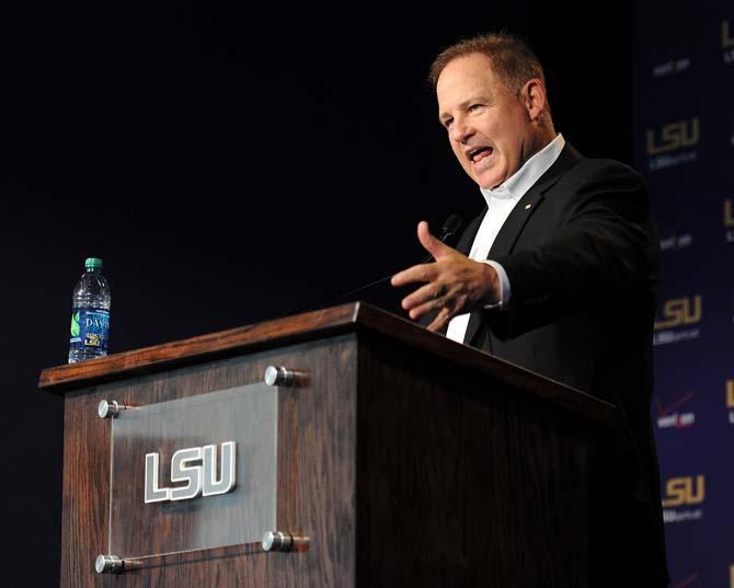
M 71 298 L 69 364 L 107 355 L 112 296 L 102 260 L 89 257 Z

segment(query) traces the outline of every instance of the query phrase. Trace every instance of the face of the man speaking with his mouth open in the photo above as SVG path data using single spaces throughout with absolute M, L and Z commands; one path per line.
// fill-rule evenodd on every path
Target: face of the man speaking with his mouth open
M 438 117 L 463 170 L 481 187 L 494 188 L 535 152 L 537 142 L 525 91 L 517 96 L 482 54 L 458 57 L 444 68 L 436 94 Z

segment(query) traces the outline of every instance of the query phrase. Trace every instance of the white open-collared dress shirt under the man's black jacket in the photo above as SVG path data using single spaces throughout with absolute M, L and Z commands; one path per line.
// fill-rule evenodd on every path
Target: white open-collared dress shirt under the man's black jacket
M 494 304 L 485 308 L 502 308 L 509 302 L 512 289 L 507 273 L 496 262 L 488 261 L 490 249 L 494 240 L 500 233 L 500 229 L 507 220 L 507 217 L 515 208 L 515 205 L 525 196 L 525 193 L 532 187 L 532 185 L 540 180 L 548 169 L 555 162 L 563 150 L 565 140 L 562 135 L 557 135 L 555 138 L 527 160 L 523 166 L 517 170 L 511 177 L 505 180 L 496 188 L 481 188 L 482 196 L 486 200 L 486 214 L 479 226 L 479 231 L 474 238 L 474 243 L 471 245 L 469 257 L 477 262 L 484 262 L 494 267 L 500 277 L 501 295 L 500 300 Z M 467 326 L 469 325 L 470 313 L 458 314 L 448 323 L 446 336 L 450 339 L 463 342 L 467 334 Z

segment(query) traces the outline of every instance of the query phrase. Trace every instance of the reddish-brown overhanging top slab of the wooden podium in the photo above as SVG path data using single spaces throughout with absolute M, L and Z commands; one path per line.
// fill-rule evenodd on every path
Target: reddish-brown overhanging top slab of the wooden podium
M 612 424 L 615 405 L 590 394 L 549 380 L 473 347 L 431 333 L 415 323 L 364 302 L 353 302 L 284 319 L 219 331 L 153 347 L 113 354 L 42 371 L 38 387 L 66 392 L 128 377 L 244 355 L 261 349 L 328 336 L 372 332 L 406 343 L 422 353 L 438 356 L 458 367 L 485 372 L 504 383 L 558 402 L 593 420 Z

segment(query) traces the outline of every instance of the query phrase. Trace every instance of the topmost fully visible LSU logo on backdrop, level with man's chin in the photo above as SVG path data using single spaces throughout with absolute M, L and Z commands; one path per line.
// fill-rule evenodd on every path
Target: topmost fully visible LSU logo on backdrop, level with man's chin
M 701 138 L 700 119 L 667 123 L 658 129 L 646 129 L 646 152 L 651 171 L 672 168 L 689 161 L 696 161 L 696 147 Z

